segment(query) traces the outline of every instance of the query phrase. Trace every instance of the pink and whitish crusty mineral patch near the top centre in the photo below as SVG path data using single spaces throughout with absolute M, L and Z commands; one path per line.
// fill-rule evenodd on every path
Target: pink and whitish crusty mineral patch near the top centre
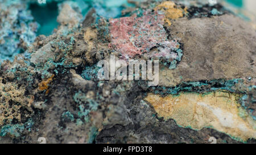
M 150 51 L 157 44 L 164 44 L 168 49 L 176 48 L 176 43 L 167 41 L 167 33 L 163 27 L 164 15 L 146 11 L 142 17 L 136 14 L 130 17 L 110 19 L 110 48 L 119 51 L 124 59 L 133 58 L 136 54 Z M 174 58 L 170 50 L 162 51 L 159 56 Z

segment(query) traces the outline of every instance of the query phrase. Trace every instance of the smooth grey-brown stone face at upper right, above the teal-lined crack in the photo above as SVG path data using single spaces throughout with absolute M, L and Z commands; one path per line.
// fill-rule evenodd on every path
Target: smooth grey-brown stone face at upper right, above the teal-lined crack
M 256 77 L 255 29 L 236 16 L 179 18 L 172 22 L 170 33 L 184 44 L 183 57 L 174 70 L 162 70 L 170 76 L 159 73 L 159 85 Z

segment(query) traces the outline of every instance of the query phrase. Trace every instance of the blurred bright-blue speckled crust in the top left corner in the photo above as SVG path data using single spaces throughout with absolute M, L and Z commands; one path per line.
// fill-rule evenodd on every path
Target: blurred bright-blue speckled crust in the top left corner
M 34 42 L 38 23 L 23 1 L 2 0 L 0 21 L 0 63 L 23 53 Z

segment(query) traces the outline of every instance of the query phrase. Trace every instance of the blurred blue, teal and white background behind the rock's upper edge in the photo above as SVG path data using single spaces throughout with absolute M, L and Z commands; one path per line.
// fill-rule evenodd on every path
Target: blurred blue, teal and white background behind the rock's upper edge
M 58 27 L 57 16 L 63 3 L 85 17 L 94 8 L 97 15 L 119 18 L 122 10 L 136 3 L 166 0 L 0 0 L 0 64 L 24 53 L 36 36 L 49 36 Z M 256 0 L 172 0 L 187 7 L 221 3 L 227 10 L 248 21 L 256 29 Z M 45 2 L 45 3 L 42 3 Z

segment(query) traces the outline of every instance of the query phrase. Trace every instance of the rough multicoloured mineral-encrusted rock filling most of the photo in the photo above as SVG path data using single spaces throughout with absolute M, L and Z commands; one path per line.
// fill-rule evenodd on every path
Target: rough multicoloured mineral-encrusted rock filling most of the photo
M 106 19 L 93 10 L 82 19 L 64 3 L 62 9 L 73 15 L 60 11 L 59 28 L 51 36 L 36 37 L 27 49 L 30 57 L 1 63 L 0 143 L 39 143 L 39 137 L 46 143 L 209 143 L 210 137 L 217 143 L 256 142 L 255 29 L 220 5 L 196 10 L 179 1 L 136 4 L 123 10 L 120 19 Z M 165 16 L 175 12 L 166 12 L 172 8 L 183 16 Z M 98 61 L 109 61 L 110 54 L 121 59 L 129 55 L 129 50 L 120 51 L 116 35 L 127 32 L 113 27 L 138 28 L 125 20 L 143 25 L 146 14 L 156 22 L 145 23 L 146 30 L 134 32 L 134 40 L 124 34 L 129 36 L 124 41 L 127 49 L 140 50 L 131 54 L 134 59 L 163 53 L 151 55 L 159 59 L 159 85 L 98 80 Z M 146 34 L 155 40 L 147 40 L 152 46 L 141 50 L 138 38 L 143 31 L 154 33 L 150 27 L 156 25 L 159 35 Z M 175 58 L 164 57 L 168 54 Z M 194 110 L 183 108 L 189 103 Z

